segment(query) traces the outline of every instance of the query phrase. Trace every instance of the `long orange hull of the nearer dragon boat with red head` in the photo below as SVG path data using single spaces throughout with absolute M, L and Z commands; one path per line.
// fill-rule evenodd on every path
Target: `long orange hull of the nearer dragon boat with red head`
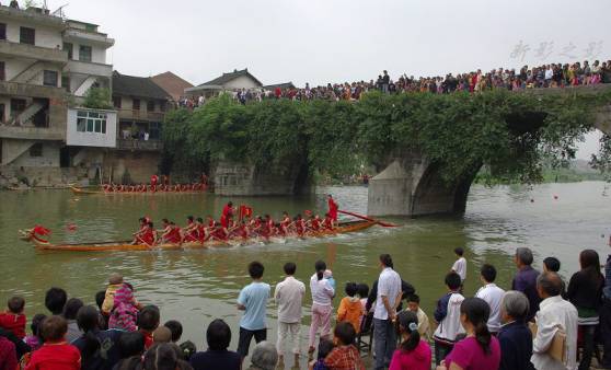
M 252 245 L 256 243 L 281 242 L 285 240 L 324 238 L 336 234 L 345 234 L 349 232 L 361 231 L 374 226 L 373 221 L 351 221 L 343 222 L 333 230 L 323 230 L 316 232 L 309 232 L 302 238 L 298 236 L 272 236 L 269 239 L 254 238 L 249 240 L 229 240 L 227 242 L 209 241 L 205 243 L 183 243 L 183 244 L 159 244 L 149 246 L 147 244 L 129 244 L 127 241 L 122 242 L 107 242 L 107 243 L 79 243 L 79 244 L 50 244 L 37 241 L 36 239 L 28 238 L 26 234 L 22 239 L 32 242 L 36 250 L 39 251 L 64 251 L 64 252 L 112 252 L 112 251 L 159 251 L 159 250 L 201 250 L 209 247 L 227 247 L 238 245 Z

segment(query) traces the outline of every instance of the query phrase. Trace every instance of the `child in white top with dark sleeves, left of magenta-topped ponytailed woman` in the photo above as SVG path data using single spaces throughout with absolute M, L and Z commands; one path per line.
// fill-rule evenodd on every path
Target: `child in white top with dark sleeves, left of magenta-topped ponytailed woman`
M 438 323 L 433 336 L 435 340 L 435 361 L 437 366 L 454 347 L 457 335 L 464 333 L 460 323 L 460 305 L 464 297 L 459 292 L 461 287 L 460 276 L 452 271 L 446 275 L 448 292 L 437 301 L 435 321 Z

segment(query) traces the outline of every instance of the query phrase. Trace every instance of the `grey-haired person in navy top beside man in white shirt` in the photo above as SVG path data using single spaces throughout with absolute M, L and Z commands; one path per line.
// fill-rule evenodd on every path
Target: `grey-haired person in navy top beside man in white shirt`
M 509 290 L 500 301 L 500 367 L 499 370 L 533 370 L 532 334 L 526 319 L 529 313 L 528 298 L 520 291 Z

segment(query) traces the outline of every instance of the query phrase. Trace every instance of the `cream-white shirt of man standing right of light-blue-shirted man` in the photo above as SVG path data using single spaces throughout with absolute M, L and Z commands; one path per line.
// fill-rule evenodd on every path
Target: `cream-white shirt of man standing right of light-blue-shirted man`
M 278 304 L 278 321 L 292 324 L 300 323 L 303 316 L 301 303 L 306 293 L 306 285 L 292 276 L 287 276 L 278 282 L 274 291 L 274 300 Z

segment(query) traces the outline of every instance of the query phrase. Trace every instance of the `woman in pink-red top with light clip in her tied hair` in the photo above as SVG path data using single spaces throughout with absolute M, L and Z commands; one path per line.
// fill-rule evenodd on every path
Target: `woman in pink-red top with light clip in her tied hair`
M 429 370 L 430 346 L 420 339 L 418 316 L 412 311 L 402 311 L 396 316 L 401 345 L 392 356 L 389 370 Z

